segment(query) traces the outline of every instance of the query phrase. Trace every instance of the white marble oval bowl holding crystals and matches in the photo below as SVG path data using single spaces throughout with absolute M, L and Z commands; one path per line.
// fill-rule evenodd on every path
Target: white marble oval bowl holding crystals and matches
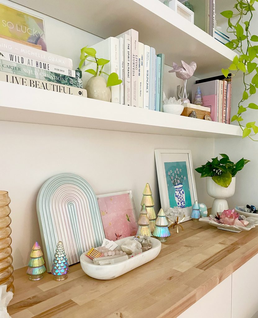
M 125 242 L 127 239 L 133 238 L 133 236 L 129 236 L 124 239 L 119 239 L 116 241 L 118 245 L 121 245 L 123 242 Z M 82 269 L 85 274 L 101 280 L 108 280 L 116 278 L 120 275 L 123 275 L 132 269 L 139 267 L 151 260 L 153 260 L 155 257 L 157 257 L 161 250 L 161 243 L 158 239 L 154 239 L 151 237 L 152 242 L 152 248 L 146 252 L 143 252 L 141 254 L 138 254 L 128 260 L 125 260 L 121 263 L 116 264 L 109 264 L 109 265 L 95 265 L 93 264 L 93 261 L 85 256 L 85 253 L 83 253 L 80 256 L 80 262 Z

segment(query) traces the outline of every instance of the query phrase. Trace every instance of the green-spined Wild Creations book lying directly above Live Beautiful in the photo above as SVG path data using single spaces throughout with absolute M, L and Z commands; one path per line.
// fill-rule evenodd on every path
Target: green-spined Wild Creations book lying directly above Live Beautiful
M 23 64 L 9 62 L 1 59 L 0 56 L 0 71 L 13 73 L 16 75 L 28 76 L 34 79 L 42 79 L 49 82 L 68 85 L 72 87 L 82 88 L 82 81 L 77 80 L 74 77 L 59 74 L 55 72 L 50 72 L 47 70 L 38 69 L 32 66 L 25 66 Z

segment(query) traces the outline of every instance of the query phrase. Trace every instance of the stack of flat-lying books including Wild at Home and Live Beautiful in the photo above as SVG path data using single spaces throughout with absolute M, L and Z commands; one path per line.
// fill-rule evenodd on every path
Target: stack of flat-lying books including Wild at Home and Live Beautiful
M 0 81 L 87 97 L 72 60 L 0 36 Z

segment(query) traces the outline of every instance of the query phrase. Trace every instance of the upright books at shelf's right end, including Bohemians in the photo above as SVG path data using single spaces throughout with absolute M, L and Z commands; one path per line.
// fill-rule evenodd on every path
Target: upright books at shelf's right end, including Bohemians
M 198 86 L 202 93 L 203 106 L 211 110 L 212 121 L 230 124 L 232 79 L 220 75 L 195 81 L 192 86 L 192 103 Z

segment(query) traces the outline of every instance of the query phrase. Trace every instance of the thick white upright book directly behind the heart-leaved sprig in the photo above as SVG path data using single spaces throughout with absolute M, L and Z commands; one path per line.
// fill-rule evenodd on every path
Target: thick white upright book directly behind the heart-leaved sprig
M 107 74 L 117 73 L 119 76 L 119 39 L 118 38 L 107 38 L 97 44 L 91 46 L 93 49 L 96 50 L 96 57 L 101 57 L 102 59 L 108 59 L 110 62 L 105 64 L 103 67 L 103 72 Z M 96 70 L 96 63 L 90 62 L 85 64 L 83 71 L 92 68 Z M 99 67 L 100 70 L 101 67 Z M 91 77 L 91 74 L 87 72 L 83 73 L 83 80 L 88 80 Z M 108 75 L 102 74 L 107 81 Z M 120 101 L 120 85 L 110 86 L 111 90 L 111 102 L 119 104 Z

